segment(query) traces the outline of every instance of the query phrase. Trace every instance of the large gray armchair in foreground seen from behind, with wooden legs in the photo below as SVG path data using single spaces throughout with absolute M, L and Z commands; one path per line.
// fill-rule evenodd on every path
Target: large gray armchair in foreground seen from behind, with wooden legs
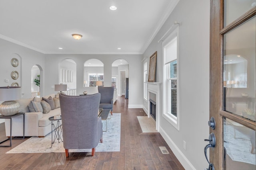
M 102 143 L 102 122 L 98 117 L 100 94 L 67 96 L 60 94 L 63 146 L 66 157 L 69 149 L 92 149 Z

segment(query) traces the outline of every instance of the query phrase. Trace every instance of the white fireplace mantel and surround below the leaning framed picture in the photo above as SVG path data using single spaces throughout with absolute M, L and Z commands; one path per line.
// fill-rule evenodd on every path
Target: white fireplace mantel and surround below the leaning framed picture
M 147 82 L 148 84 L 148 96 L 149 93 L 156 94 L 156 130 L 159 131 L 159 120 L 160 120 L 160 82 Z M 148 117 L 150 117 L 150 101 L 148 97 Z

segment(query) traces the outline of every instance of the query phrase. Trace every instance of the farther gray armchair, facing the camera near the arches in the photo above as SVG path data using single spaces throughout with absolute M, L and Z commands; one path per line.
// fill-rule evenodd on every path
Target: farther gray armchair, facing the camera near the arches
M 101 94 L 100 108 L 110 109 L 111 110 L 111 115 L 112 115 L 114 87 L 98 86 L 98 92 Z

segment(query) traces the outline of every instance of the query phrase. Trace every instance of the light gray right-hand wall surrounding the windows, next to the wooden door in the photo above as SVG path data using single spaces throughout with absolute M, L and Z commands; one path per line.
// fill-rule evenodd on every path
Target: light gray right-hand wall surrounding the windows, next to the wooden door
M 209 135 L 210 1 L 180 0 L 161 27 L 144 53 L 149 65 L 149 57 L 157 51 L 156 82 L 163 82 L 162 43 L 158 40 L 175 20 L 180 23 L 180 130 L 161 115 L 160 133 L 186 170 L 200 170 L 208 167 L 203 150 Z

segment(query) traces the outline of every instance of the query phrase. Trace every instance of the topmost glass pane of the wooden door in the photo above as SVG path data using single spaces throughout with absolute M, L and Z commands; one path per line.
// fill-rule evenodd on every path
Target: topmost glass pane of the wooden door
M 224 0 L 224 27 L 256 6 L 256 0 Z

